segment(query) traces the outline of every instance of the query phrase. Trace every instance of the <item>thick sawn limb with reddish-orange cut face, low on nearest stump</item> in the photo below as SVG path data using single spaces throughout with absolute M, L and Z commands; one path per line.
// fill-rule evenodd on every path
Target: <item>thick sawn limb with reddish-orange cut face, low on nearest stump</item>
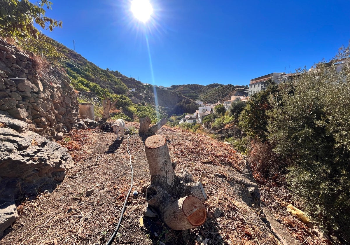
M 195 196 L 182 197 L 164 208 L 163 220 L 174 230 L 186 230 L 203 225 L 207 210 Z

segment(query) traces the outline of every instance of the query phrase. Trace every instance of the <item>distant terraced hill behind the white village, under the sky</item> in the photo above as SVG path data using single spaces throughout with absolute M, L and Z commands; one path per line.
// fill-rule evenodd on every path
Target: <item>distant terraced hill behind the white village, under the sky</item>
M 186 84 L 172 85 L 172 91 L 181 93 L 193 100 L 201 100 L 203 103 L 217 103 L 218 101 L 229 100 L 231 96 L 247 96 L 248 88 L 246 86 L 234 86 L 231 84 L 223 85 L 213 83 L 209 85 Z

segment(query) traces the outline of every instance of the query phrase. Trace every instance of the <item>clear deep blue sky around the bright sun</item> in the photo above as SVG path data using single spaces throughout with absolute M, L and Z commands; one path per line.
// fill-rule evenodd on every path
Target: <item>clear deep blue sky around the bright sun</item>
M 71 49 L 75 40 L 100 68 L 155 85 L 246 85 L 329 60 L 350 40 L 349 0 L 151 0 L 145 24 L 129 0 L 51 1 L 47 16 L 63 28 L 44 34 Z

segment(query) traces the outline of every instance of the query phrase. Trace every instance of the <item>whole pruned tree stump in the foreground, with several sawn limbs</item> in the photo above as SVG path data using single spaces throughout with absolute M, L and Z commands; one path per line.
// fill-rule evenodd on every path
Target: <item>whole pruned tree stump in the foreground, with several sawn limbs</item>
M 174 230 L 186 230 L 204 224 L 207 210 L 202 202 L 207 199 L 201 182 L 190 182 L 190 176 L 174 174 L 166 139 L 153 135 L 145 141 L 145 152 L 151 174 L 151 185 L 146 190 L 146 201 L 155 208 L 160 218 Z

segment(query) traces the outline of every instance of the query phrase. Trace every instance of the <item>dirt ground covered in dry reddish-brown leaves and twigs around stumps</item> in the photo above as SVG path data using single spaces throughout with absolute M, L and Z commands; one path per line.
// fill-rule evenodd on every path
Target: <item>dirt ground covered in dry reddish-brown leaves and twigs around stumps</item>
M 126 126 L 137 131 L 139 124 L 128 122 Z M 134 169 L 132 192 L 136 190 L 138 195 L 129 197 L 113 244 L 280 244 L 258 217 L 258 208 L 249 205 L 247 187 L 230 179 L 233 173 L 247 171 L 242 155 L 201 134 L 166 126 L 157 134 L 167 139 L 170 158 L 177 161 L 175 173 L 186 170 L 196 181 L 202 170 L 206 171 L 202 184 L 208 195 L 204 203 L 208 217 L 204 225 L 174 231 L 158 218 L 148 217 L 143 217 L 141 225 L 146 205 L 142 186 L 151 179 L 142 138 L 133 134 L 118 141 L 113 132 L 73 130 L 59 143 L 69 149 L 75 167 L 52 193 L 40 190 L 40 196 L 21 203 L 20 218 L 5 231 L 0 244 L 105 244 L 130 189 L 127 147 Z M 277 200 L 269 192 L 276 188 L 262 186 L 261 198 L 280 225 L 296 244 L 322 244 L 306 225 L 283 211 L 288 193 L 276 190 L 281 198 Z M 86 195 L 87 190 L 93 193 Z M 218 211 L 222 211 L 220 216 Z

